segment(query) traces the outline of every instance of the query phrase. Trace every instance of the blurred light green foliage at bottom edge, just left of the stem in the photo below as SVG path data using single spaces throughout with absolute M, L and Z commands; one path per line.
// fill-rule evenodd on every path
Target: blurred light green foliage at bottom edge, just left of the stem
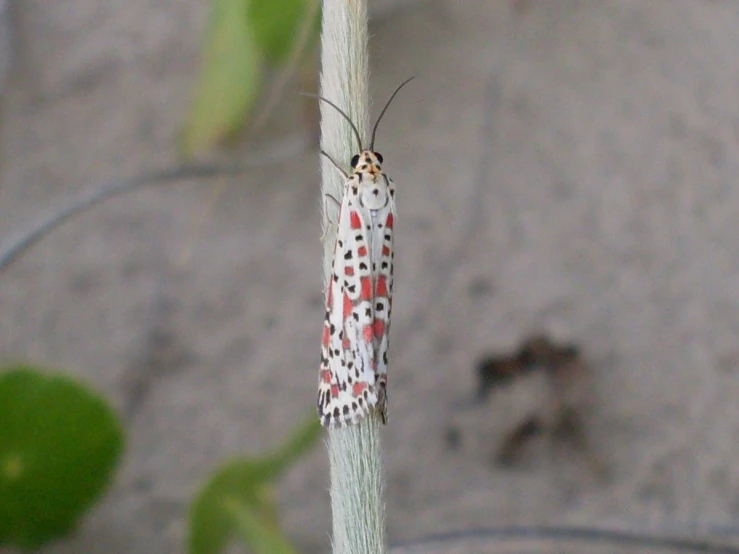
M 234 538 L 256 554 L 292 554 L 282 535 L 273 482 L 316 442 L 321 426 L 311 415 L 274 454 L 234 460 L 217 471 L 190 508 L 190 554 L 219 554 Z

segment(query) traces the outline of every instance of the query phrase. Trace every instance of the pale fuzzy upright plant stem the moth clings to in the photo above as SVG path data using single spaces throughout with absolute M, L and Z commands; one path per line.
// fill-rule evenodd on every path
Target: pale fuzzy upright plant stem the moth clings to
M 321 31 L 321 95 L 336 103 L 367 137 L 369 127 L 366 0 L 324 0 Z M 358 153 L 349 124 L 321 102 L 321 147 L 339 163 Z M 324 282 L 334 251 L 338 217 L 327 197 L 340 200 L 343 179 L 328 160 L 321 161 L 324 242 Z M 348 165 L 348 164 L 347 164 Z M 332 210 L 329 217 L 327 209 Z M 380 421 L 376 413 L 342 429 L 328 432 L 331 465 L 331 510 L 334 554 L 384 554 L 385 502 Z

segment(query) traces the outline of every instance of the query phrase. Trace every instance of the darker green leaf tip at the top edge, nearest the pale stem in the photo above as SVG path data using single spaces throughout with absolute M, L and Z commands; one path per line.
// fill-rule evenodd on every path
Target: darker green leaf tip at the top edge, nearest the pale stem
M 280 65 L 290 58 L 308 12 L 307 0 L 248 0 L 247 20 L 271 64 Z

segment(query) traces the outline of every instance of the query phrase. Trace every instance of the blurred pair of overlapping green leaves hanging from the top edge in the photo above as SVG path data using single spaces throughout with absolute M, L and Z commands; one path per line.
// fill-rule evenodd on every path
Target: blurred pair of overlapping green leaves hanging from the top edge
M 185 156 L 227 140 L 246 124 L 264 69 L 290 60 L 315 1 L 211 0 L 202 67 L 181 137 Z

